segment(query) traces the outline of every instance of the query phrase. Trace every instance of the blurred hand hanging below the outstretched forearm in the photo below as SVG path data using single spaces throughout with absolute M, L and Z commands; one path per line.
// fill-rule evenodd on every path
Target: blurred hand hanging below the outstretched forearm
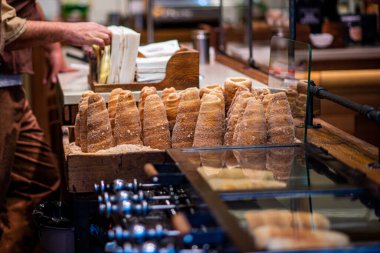
M 58 73 L 72 72 L 76 70 L 69 68 L 66 65 L 60 43 L 48 44 L 44 46 L 44 50 L 47 69 L 44 73 L 43 84 L 50 85 L 51 88 L 53 84 L 58 82 Z

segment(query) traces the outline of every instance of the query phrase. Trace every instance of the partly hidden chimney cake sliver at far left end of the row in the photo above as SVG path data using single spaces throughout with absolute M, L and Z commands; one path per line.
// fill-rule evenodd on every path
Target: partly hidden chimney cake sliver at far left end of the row
M 88 111 L 88 97 L 94 94 L 93 91 L 85 91 L 82 93 L 79 101 L 79 132 L 80 147 L 82 152 L 87 152 L 87 111 Z

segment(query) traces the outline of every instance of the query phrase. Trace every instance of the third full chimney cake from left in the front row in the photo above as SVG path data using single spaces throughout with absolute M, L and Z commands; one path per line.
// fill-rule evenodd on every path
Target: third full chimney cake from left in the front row
M 169 122 L 164 103 L 157 94 L 146 97 L 143 124 L 144 145 L 156 149 L 170 148 Z

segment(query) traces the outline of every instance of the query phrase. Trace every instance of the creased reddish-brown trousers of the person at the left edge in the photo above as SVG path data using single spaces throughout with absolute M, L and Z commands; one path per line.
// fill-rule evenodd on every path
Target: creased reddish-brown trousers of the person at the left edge
M 33 252 L 32 211 L 56 191 L 56 159 L 21 86 L 0 88 L 0 252 Z

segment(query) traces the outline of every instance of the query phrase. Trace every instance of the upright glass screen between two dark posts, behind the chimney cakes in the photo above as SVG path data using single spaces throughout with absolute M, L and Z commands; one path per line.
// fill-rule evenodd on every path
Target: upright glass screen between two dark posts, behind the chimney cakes
M 286 37 L 289 33 L 289 3 L 288 0 L 249 1 L 222 1 L 224 43 L 219 49 L 232 58 L 267 72 L 272 35 Z

